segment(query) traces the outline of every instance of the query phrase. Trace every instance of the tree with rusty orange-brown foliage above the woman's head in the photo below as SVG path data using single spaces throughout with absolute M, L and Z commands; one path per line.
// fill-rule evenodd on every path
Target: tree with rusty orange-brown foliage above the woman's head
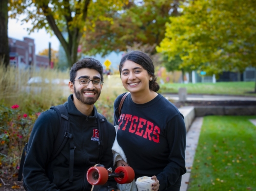
M 108 17 L 113 20 L 97 20 L 93 30 L 87 30 L 83 52 L 106 55 L 112 51 L 126 51 L 140 45 L 154 47 L 155 54 L 165 34 L 165 23 L 170 16 L 179 15 L 178 0 L 129 1 L 122 11 L 111 10 Z

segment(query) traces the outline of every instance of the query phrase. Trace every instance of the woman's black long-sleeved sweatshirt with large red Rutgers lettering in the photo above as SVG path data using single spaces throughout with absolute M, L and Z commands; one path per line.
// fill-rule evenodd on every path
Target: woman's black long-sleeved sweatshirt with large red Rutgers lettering
M 161 94 L 145 104 L 135 104 L 128 94 L 119 117 L 123 95 L 114 102 L 114 125 L 120 126 L 117 141 L 135 178 L 155 175 L 160 191 L 179 187 L 181 176 L 186 173 L 183 115 Z

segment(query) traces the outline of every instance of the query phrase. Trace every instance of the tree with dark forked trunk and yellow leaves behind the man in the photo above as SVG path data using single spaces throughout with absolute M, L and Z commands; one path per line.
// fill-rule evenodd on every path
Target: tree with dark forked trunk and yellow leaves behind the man
M 2 1 L 2 0 L 1 0 Z M 10 0 L 11 17 L 25 14 L 23 21 L 32 21 L 34 30 L 45 28 L 53 32 L 62 44 L 69 66 L 77 60 L 81 37 L 95 26 L 95 20 L 109 20 L 112 10 L 121 10 L 128 0 Z M 67 38 L 64 37 L 67 33 Z

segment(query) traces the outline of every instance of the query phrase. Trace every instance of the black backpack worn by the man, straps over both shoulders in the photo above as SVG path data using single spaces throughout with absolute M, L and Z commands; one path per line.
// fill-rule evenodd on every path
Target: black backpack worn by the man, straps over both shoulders
M 63 147 L 65 146 L 68 139 L 69 146 L 70 146 L 70 163 L 69 163 L 69 184 L 73 183 L 73 168 L 74 168 L 74 141 L 73 141 L 73 135 L 69 133 L 70 126 L 69 126 L 69 119 L 68 119 L 68 111 L 64 105 L 58 105 L 58 106 L 52 106 L 50 109 L 54 109 L 57 114 L 58 118 L 60 119 L 60 128 L 58 129 L 57 137 L 54 141 L 53 146 L 53 152 L 50 157 L 50 161 L 53 160 L 60 152 L 62 151 Z M 100 148 L 100 157 L 97 161 L 97 163 L 100 162 L 101 157 L 103 156 L 103 150 L 106 149 L 105 147 L 107 144 L 104 145 L 104 141 L 106 140 L 108 135 L 108 131 L 106 128 L 106 118 L 98 113 L 97 114 L 97 125 L 100 132 L 100 139 L 98 142 L 99 148 Z M 104 147 L 105 146 L 105 147 Z M 22 152 L 22 158 L 21 158 L 21 164 L 19 165 L 19 172 L 18 172 L 18 181 L 22 181 L 22 174 L 23 174 L 23 165 L 26 157 L 28 143 L 25 145 L 23 152 Z

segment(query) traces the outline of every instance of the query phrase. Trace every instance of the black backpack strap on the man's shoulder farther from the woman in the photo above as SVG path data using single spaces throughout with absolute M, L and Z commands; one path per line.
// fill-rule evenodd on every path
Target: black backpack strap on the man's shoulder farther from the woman
M 50 157 L 50 160 L 53 160 L 58 154 L 61 153 L 62 149 L 66 145 L 68 139 L 69 140 L 69 149 L 70 149 L 70 157 L 69 157 L 69 180 L 68 183 L 73 183 L 73 169 L 74 169 L 74 140 L 73 135 L 69 133 L 70 126 L 68 120 L 68 111 L 64 105 L 52 106 L 50 109 L 54 109 L 58 117 L 60 118 L 60 128 L 58 129 L 58 134 L 54 141 L 53 152 Z

